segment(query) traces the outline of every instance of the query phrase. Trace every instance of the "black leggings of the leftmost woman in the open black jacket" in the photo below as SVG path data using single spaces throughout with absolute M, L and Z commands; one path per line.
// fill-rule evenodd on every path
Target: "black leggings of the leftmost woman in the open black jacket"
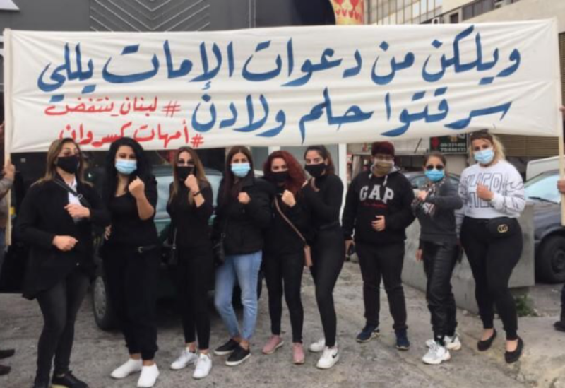
M 88 276 L 75 269 L 64 280 L 37 295 L 44 326 L 37 345 L 36 384 L 49 384 L 55 357 L 55 375 L 69 372 L 78 309 L 88 290 Z

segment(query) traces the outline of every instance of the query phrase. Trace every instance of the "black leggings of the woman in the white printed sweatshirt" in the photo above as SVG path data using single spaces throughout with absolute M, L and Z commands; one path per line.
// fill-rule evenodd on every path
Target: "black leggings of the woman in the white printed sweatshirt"
M 475 278 L 475 298 L 483 327 L 494 327 L 496 305 L 509 341 L 518 339 L 518 314 L 508 283 L 522 254 L 522 230 L 518 221 L 513 223 L 516 233 L 498 239 L 489 235 L 485 220 L 465 217 L 461 227 L 461 243 Z

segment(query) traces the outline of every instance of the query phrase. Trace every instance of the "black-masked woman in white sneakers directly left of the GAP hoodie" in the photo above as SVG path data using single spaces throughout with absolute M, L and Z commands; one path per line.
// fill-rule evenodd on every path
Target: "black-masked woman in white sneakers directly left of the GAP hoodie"
M 345 241 L 339 221 L 343 183 L 334 173 L 331 155 L 326 147 L 308 147 L 304 160 L 306 170 L 312 176 L 303 192 L 311 208 L 315 233 L 312 241 L 311 274 L 316 284 L 316 301 L 324 334 L 323 339 L 311 344 L 309 351 L 323 352 L 316 366 L 329 369 L 339 360 L 335 340 L 337 317 L 333 305 L 333 288 L 345 261 Z

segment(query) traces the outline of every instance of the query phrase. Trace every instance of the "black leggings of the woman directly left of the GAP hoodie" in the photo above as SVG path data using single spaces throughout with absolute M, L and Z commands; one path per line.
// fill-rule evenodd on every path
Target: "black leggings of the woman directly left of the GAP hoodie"
M 319 230 L 311 247 L 312 262 L 310 272 L 316 286 L 316 302 L 322 321 L 326 346 L 335 346 L 337 317 L 333 305 L 333 288 L 338 281 L 345 261 L 345 241 L 341 228 Z

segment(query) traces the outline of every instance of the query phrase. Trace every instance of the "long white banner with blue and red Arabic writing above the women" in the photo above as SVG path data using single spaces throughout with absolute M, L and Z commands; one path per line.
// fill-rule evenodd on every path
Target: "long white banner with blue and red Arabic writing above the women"
M 554 20 L 5 37 L 13 153 L 558 134 Z

